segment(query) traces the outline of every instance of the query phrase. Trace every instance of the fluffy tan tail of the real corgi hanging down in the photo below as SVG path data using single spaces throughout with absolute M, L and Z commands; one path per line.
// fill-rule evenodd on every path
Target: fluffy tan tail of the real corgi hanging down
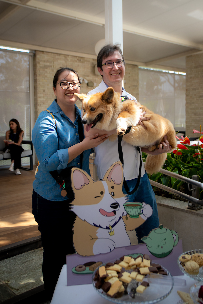
M 166 160 L 167 153 L 159 155 L 148 154 L 145 162 L 145 170 L 149 174 L 153 174 L 160 170 L 163 167 L 163 164 Z

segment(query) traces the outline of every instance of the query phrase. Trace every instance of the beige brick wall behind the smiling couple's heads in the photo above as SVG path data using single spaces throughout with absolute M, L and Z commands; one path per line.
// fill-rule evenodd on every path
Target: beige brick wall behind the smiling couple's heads
M 79 76 L 88 81 L 96 83 L 94 88 L 102 81 L 101 76 L 96 76 L 94 67 L 96 59 L 76 57 L 70 55 L 54 54 L 36 51 L 34 56 L 34 100 L 35 120 L 40 112 L 46 109 L 54 100 L 55 95 L 52 88 L 53 77 L 59 67 L 71 67 L 79 73 Z M 138 66 L 126 64 L 124 87 L 138 99 Z M 80 92 L 87 94 L 93 88 L 87 88 L 83 82 Z M 81 102 L 76 105 L 81 108 Z

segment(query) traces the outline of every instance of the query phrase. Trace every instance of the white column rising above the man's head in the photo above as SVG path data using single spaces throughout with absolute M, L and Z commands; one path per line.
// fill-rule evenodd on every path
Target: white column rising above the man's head
M 120 43 L 123 52 L 122 0 L 105 0 L 105 43 Z

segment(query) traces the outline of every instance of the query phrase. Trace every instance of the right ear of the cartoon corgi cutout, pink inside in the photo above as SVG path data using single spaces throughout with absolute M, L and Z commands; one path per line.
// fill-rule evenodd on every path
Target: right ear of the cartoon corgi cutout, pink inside
M 115 162 L 107 170 L 104 175 L 103 181 L 114 181 L 114 184 L 120 185 L 123 182 L 123 166 L 120 161 Z

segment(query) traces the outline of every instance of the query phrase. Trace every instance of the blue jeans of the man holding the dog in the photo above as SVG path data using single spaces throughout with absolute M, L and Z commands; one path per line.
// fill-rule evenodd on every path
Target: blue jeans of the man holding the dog
M 126 182 L 129 187 L 129 190 L 132 191 L 137 183 L 137 178 L 131 179 L 130 181 Z M 127 194 L 124 186 L 123 192 Z M 135 229 L 138 237 L 138 243 L 143 243 L 141 238 L 147 236 L 152 229 L 157 228 L 159 226 L 159 217 L 156 206 L 155 194 L 152 190 L 152 186 L 149 183 L 149 178 L 146 172 L 145 175 L 143 175 L 140 179 L 137 191 L 135 191 L 135 193 L 131 195 L 128 195 L 127 202 L 145 202 L 146 204 L 149 204 L 153 209 L 152 216 L 146 219 L 145 223 Z

